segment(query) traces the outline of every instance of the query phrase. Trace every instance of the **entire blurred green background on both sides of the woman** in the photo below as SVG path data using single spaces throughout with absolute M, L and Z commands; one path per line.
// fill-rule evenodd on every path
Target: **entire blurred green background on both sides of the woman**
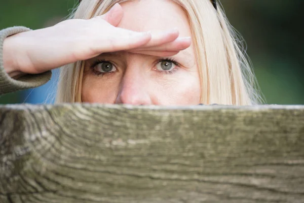
M 0 29 L 13 25 L 32 29 L 54 25 L 77 2 L 0 0 Z M 303 105 L 304 0 L 221 0 L 221 4 L 247 43 L 247 53 L 266 103 Z M 27 100 L 31 94 L 31 90 L 6 94 L 0 97 L 0 104 L 32 102 Z

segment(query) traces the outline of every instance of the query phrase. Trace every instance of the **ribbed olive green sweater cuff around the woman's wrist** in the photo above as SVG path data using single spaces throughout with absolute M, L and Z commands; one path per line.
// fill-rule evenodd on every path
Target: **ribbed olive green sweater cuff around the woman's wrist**
M 4 70 L 3 66 L 3 43 L 4 40 L 16 33 L 23 31 L 29 31 L 29 28 L 22 26 L 10 27 L 7 29 L 0 30 L 0 95 L 14 92 L 22 89 L 28 89 L 33 87 L 41 86 L 47 83 L 51 79 L 51 71 L 47 71 L 42 74 L 27 74 L 21 78 L 13 79 Z

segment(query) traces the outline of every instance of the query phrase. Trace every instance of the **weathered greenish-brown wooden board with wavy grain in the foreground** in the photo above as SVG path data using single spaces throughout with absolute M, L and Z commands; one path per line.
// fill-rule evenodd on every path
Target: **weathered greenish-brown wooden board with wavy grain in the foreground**
M 0 202 L 304 202 L 304 107 L 0 106 Z

